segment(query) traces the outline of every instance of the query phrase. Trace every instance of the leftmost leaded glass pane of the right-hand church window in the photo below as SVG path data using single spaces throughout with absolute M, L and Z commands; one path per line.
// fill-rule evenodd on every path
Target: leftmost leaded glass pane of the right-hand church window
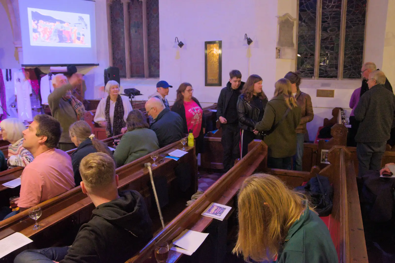
M 299 0 L 297 70 L 302 77 L 314 75 L 317 0 Z

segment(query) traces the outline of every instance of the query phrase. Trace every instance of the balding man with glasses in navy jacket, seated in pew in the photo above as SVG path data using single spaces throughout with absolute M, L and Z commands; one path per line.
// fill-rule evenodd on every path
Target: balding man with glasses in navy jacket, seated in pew
M 150 129 L 155 131 L 160 148 L 184 137 L 181 116 L 165 107 L 160 98 L 150 98 L 145 103 L 145 110 L 154 120 Z

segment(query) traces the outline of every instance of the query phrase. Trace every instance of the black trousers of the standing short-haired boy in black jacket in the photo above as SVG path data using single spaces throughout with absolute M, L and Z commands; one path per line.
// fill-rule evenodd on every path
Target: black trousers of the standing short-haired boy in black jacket
M 224 149 L 224 172 L 229 171 L 240 158 L 240 128 L 238 124 L 222 124 L 222 148 Z

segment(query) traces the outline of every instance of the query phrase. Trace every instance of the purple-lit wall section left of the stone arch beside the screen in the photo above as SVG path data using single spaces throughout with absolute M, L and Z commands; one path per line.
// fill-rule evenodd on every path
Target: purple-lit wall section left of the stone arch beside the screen
M 0 68 L 19 68 L 6 0 L 0 0 Z

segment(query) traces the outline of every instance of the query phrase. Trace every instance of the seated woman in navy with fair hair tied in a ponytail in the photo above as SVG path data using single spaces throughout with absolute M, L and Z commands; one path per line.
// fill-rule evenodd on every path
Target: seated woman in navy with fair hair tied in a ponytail
M 113 158 L 110 149 L 102 141 L 95 139 L 88 123 L 84 120 L 78 120 L 70 125 L 69 135 L 71 141 L 77 149 L 71 155 L 71 163 L 73 165 L 75 186 L 79 186 L 81 182 L 81 174 L 79 173 L 79 164 L 82 158 L 93 152 L 104 152 Z

